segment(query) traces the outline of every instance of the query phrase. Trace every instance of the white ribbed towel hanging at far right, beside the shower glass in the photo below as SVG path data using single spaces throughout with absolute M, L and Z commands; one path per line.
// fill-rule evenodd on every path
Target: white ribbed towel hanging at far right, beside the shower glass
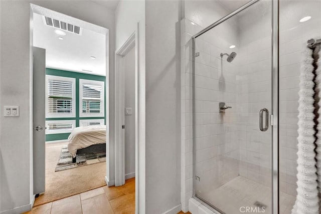
M 299 115 L 298 115 L 298 159 L 297 196 L 292 214 L 318 214 L 318 191 L 314 141 L 313 114 L 313 57 L 312 50 L 306 47 L 300 69 Z

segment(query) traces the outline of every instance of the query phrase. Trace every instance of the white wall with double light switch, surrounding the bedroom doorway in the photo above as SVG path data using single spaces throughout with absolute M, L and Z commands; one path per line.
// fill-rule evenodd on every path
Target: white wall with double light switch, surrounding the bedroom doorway
M 29 3 L 109 29 L 109 103 L 114 103 L 114 13 L 90 1 L 1 1 L 1 112 L 4 105 L 19 105 L 20 116 L 1 115 L 1 211 L 26 211 L 32 195 L 30 138 L 30 28 Z M 92 12 L 95 13 L 92 13 Z M 12 28 L 15 26 L 15 28 Z M 113 142 L 114 106 L 109 107 L 109 142 Z M 19 134 L 17 134 L 17 132 Z M 24 206 L 26 205 L 26 206 Z

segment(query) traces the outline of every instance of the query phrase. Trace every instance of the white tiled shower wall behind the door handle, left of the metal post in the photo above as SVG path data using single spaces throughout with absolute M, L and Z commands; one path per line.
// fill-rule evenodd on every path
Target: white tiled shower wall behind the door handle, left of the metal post
M 237 15 L 239 172 L 266 186 L 271 186 L 271 128 L 259 130 L 259 111 L 271 110 L 271 15 L 267 1 Z

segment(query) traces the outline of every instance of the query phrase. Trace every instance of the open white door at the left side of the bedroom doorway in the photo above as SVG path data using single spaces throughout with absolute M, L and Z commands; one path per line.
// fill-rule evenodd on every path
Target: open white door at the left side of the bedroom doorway
M 34 194 L 45 192 L 46 50 L 33 48 Z

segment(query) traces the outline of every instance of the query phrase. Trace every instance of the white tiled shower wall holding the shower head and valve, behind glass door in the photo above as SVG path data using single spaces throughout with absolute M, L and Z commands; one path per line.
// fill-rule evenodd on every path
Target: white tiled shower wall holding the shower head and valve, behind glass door
M 236 24 L 225 25 L 196 38 L 195 52 L 195 135 L 196 193 L 203 198 L 239 175 L 239 146 L 236 117 L 235 62 L 227 62 L 229 48 L 237 43 Z M 235 50 L 237 51 L 237 50 Z M 231 109 L 219 112 L 219 102 Z

